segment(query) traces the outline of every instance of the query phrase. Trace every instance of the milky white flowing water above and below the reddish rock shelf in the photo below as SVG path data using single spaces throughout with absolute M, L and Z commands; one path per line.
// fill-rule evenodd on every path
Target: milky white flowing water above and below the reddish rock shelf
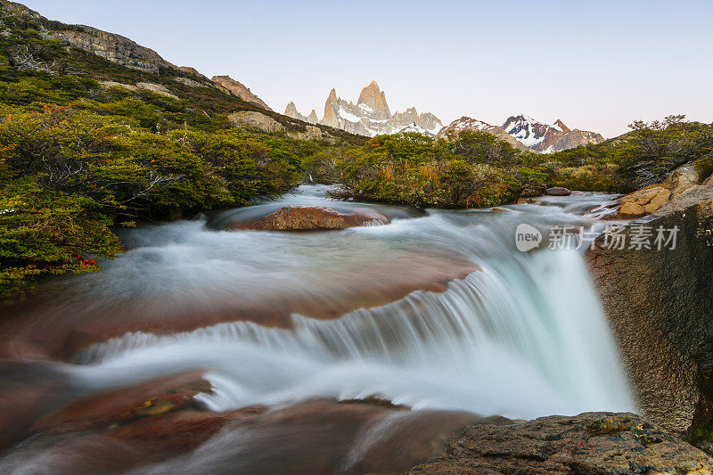
M 307 191 L 303 201 L 286 202 L 335 204 Z M 73 373 L 101 389 L 206 369 L 214 393 L 201 399 L 216 410 L 370 395 L 517 418 L 633 410 L 580 254 L 521 253 L 513 245 L 519 223 L 590 223 L 559 205 L 510 208 L 432 211 L 324 233 L 216 232 L 201 222 L 137 230 L 127 236 L 133 250 L 83 281 L 87 300 L 193 305 L 291 293 L 326 301 L 384 277 L 369 274 L 382 259 L 417 250 L 447 250 L 481 270 L 447 291 L 416 291 L 337 320 L 292 315 L 293 329 L 236 322 L 168 336 L 128 333 L 86 349 Z

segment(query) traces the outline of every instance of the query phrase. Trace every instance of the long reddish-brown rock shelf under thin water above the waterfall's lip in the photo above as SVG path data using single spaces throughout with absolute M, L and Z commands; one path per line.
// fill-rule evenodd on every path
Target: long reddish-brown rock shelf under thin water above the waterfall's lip
M 190 332 L 224 322 L 251 321 L 289 328 L 295 313 L 334 319 L 357 308 L 395 302 L 413 291 L 445 291 L 448 282 L 476 270 L 478 266 L 466 258 L 421 249 L 392 258 L 366 257 L 363 262 L 349 264 L 348 269 L 335 267 L 335 279 L 345 282 L 348 278 L 349 284 L 332 285 L 328 292 L 236 288 L 233 294 L 209 301 L 131 299 L 101 305 L 43 299 L 6 309 L 8 316 L 0 320 L 0 354 L 70 359 L 83 348 L 127 332 Z

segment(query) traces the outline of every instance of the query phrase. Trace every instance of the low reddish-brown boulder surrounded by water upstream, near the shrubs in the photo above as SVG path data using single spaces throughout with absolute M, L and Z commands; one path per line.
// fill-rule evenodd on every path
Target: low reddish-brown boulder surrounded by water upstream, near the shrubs
M 234 222 L 229 229 L 261 231 L 305 231 L 308 229 L 344 229 L 362 225 L 388 225 L 389 218 L 376 209 L 341 212 L 322 206 L 286 206 L 252 222 Z

